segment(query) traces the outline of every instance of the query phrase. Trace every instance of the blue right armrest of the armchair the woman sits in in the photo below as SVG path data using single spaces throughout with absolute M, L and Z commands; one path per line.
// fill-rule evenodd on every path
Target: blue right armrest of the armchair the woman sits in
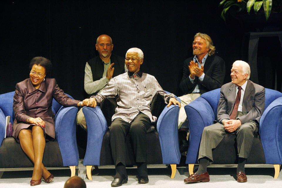
M 55 118 L 56 140 L 59 144 L 64 166 L 78 165 L 76 144 L 76 107 L 62 107 Z

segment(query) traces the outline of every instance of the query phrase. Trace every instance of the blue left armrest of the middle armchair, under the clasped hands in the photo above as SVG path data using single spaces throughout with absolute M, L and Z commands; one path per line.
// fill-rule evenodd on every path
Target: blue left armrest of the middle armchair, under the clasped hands
M 87 124 L 87 148 L 83 165 L 100 165 L 102 141 L 108 125 L 100 106 L 83 107 L 82 111 Z

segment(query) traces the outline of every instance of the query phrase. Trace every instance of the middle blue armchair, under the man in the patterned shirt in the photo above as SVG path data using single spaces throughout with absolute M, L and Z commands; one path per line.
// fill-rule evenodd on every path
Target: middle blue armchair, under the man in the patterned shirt
M 179 98 L 177 100 L 180 102 Z M 108 125 L 100 106 L 96 108 L 83 107 L 82 110 L 88 129 L 87 148 L 83 165 L 86 166 L 88 179 L 92 179 L 91 169 L 93 165 L 110 165 L 114 163 L 110 150 Z M 179 164 L 181 157 L 177 132 L 178 115 L 178 106 L 164 107 L 157 120 L 157 131 L 146 134 L 148 140 L 148 164 L 171 164 L 171 178 L 175 176 L 176 164 Z M 128 152 L 126 163 L 132 165 L 135 162 L 129 140 L 129 136 L 127 136 Z

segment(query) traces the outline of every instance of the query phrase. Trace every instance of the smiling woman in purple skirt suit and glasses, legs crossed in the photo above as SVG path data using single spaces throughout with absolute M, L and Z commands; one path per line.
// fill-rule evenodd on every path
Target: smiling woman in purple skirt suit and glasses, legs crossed
M 83 106 L 83 102 L 69 98 L 54 78 L 46 77 L 52 69 L 50 60 L 35 57 L 29 67 L 29 78 L 16 84 L 13 137 L 34 163 L 30 181 L 34 186 L 41 183 L 41 177 L 47 183 L 54 178 L 42 164 L 45 142 L 55 138 L 53 98 L 63 106 Z

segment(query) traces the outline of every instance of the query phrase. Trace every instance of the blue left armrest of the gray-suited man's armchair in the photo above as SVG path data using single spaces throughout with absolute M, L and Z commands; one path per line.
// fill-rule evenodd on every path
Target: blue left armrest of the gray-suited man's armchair
M 184 107 L 189 120 L 189 148 L 186 164 L 198 163 L 198 152 L 204 127 L 212 125 L 215 120 L 211 105 L 202 97 Z

